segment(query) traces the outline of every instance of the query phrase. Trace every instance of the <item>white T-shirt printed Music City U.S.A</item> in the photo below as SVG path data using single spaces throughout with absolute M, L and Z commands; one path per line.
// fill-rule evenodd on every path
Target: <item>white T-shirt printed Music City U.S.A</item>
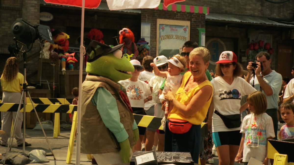
M 144 108 L 144 99 L 151 96 L 151 90 L 143 81 L 121 80 L 118 81 L 126 88 L 131 107 Z

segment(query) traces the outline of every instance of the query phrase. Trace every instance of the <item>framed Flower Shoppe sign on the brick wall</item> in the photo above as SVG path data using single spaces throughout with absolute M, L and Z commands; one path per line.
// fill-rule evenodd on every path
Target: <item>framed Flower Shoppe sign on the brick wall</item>
M 190 39 L 190 21 L 157 19 L 157 54 L 167 58 L 180 53 Z

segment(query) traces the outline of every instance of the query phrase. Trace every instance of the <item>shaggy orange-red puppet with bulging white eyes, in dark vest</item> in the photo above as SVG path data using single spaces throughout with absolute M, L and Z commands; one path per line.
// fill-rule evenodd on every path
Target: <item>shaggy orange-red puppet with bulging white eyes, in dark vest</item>
M 138 57 L 138 49 L 136 46 L 133 32 L 128 28 L 123 28 L 119 31 L 119 43 L 123 43 L 121 51 L 128 60 L 133 60 Z

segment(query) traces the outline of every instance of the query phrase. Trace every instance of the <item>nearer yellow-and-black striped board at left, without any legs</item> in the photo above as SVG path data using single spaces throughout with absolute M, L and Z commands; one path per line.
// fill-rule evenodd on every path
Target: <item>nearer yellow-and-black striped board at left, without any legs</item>
M 60 105 L 60 104 L 34 104 L 37 112 L 43 113 L 74 113 L 77 111 L 77 105 Z M 0 103 L 1 112 L 17 112 L 19 104 Z M 20 112 L 24 111 L 24 104 L 21 104 Z M 33 111 L 32 104 L 26 104 L 26 112 Z

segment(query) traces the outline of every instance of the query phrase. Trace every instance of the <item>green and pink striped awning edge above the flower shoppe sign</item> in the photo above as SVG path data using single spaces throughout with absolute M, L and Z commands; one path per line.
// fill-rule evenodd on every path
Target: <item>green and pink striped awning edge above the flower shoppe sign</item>
M 172 5 L 169 5 L 168 7 L 164 7 L 163 3 L 160 3 L 159 6 L 154 9 L 209 14 L 209 7 L 203 7 L 203 6 L 189 6 L 189 5 L 172 4 Z

